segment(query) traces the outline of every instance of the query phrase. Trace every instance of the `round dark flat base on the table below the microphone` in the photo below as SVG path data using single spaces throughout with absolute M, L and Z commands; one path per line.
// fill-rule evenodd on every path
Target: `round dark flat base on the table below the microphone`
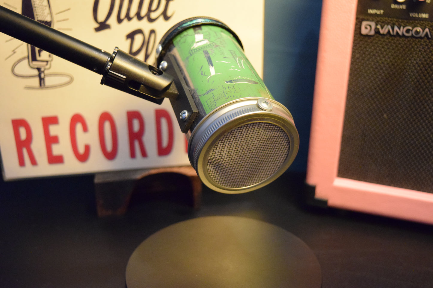
M 142 242 L 126 267 L 128 288 L 320 288 L 319 262 L 288 231 L 250 218 L 212 216 L 173 224 Z

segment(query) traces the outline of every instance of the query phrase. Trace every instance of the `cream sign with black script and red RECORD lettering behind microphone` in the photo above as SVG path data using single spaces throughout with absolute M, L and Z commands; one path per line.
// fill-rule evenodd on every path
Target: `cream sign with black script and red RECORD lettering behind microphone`
M 6 0 L 2 6 L 21 13 L 21 3 Z M 53 28 L 110 53 L 118 46 L 150 64 L 157 43 L 171 26 L 189 17 L 211 16 L 236 32 L 247 57 L 262 75 L 264 0 L 50 0 L 50 4 Z M 142 9 L 137 12 L 140 4 Z M 137 13 L 144 18 L 137 17 Z M 27 44 L 5 34 L 0 34 L 0 41 L 0 151 L 4 179 L 189 164 L 185 136 L 168 100 L 159 106 L 102 86 L 100 75 L 55 55 L 45 71 L 46 87 L 40 88 L 38 77 L 28 77 L 38 72 L 29 66 Z M 135 158 L 131 156 L 128 112 L 139 112 L 144 120 L 144 156 L 138 142 Z M 166 114 L 169 117 L 156 117 Z M 112 119 L 115 134 L 111 133 L 109 121 L 99 125 L 101 115 Z M 71 120 L 78 118 L 81 122 L 72 121 L 71 128 Z M 172 146 L 168 121 L 173 128 Z M 138 128 L 135 119 L 132 130 Z M 71 131 L 75 131 L 75 140 L 71 140 Z M 105 152 L 111 152 L 109 157 L 103 153 L 100 133 L 105 139 Z M 114 138 L 117 151 L 113 151 Z M 165 150 L 158 149 L 158 139 Z M 73 146 L 83 155 L 81 160 Z

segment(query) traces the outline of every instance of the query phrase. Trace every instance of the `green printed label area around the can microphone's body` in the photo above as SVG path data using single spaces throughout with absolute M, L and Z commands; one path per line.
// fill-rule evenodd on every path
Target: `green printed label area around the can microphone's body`
M 214 25 L 187 29 L 173 44 L 184 62 L 192 95 L 200 99 L 206 114 L 243 97 L 273 99 L 236 39 L 225 29 Z

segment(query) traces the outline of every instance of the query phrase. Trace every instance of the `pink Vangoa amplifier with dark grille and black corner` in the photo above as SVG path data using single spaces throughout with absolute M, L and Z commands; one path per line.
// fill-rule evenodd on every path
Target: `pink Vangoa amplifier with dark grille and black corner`
M 433 224 L 433 3 L 323 0 L 307 184 Z

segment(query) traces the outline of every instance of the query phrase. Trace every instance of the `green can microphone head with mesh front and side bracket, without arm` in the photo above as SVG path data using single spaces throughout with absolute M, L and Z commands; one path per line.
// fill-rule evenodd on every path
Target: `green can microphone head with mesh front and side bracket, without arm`
M 287 170 L 299 146 L 292 115 L 271 96 L 229 27 L 208 17 L 179 22 L 162 37 L 156 64 L 174 76 L 179 96 L 171 104 L 206 186 L 249 192 Z

